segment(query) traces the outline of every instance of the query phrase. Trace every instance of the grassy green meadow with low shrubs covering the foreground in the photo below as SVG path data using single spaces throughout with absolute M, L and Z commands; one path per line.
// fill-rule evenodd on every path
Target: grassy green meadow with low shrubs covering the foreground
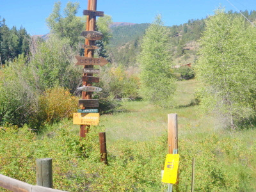
M 202 115 L 194 101 L 196 87 L 195 79 L 179 81 L 175 108 L 124 101 L 116 113 L 100 117 L 86 140 L 67 119 L 40 134 L 6 125 L 0 130 L 0 173 L 35 184 L 35 159 L 51 157 L 56 189 L 164 191 L 167 114 L 177 113 L 180 166 L 174 191 L 191 190 L 193 157 L 195 191 L 256 191 L 256 130 L 226 130 L 216 114 Z M 108 166 L 99 161 L 100 131 L 106 131 Z

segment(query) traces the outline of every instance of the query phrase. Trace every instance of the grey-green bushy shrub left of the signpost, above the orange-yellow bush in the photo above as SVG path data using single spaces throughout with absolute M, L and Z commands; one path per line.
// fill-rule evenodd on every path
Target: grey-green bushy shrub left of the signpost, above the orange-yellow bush
M 70 41 L 51 35 L 46 42 L 35 42 L 33 47 L 29 67 L 36 86 L 44 91 L 60 85 L 74 92 L 81 81 L 81 68 L 74 65 L 77 53 L 71 49 Z

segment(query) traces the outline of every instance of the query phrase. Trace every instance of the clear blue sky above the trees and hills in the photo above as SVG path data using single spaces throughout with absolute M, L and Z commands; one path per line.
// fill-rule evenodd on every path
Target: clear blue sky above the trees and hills
M 213 15 L 214 9 L 221 4 L 226 10 L 256 10 L 255 0 L 97 0 L 97 10 L 111 15 L 114 22 L 152 22 L 157 13 L 163 15 L 166 26 L 179 25 L 189 19 L 202 19 Z M 6 19 L 6 24 L 23 26 L 30 35 L 49 33 L 45 19 L 52 12 L 54 0 L 0 0 L 0 16 Z M 68 1 L 61 1 L 63 7 Z M 88 0 L 79 2 L 77 16 L 83 15 L 87 9 Z

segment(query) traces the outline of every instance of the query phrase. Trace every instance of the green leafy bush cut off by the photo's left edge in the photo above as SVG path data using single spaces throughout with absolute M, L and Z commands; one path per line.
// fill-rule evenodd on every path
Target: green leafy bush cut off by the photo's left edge
M 29 82 L 33 74 L 26 62 L 27 58 L 20 55 L 3 68 L 0 76 L 0 124 L 24 125 L 35 112 L 38 92 L 35 84 Z

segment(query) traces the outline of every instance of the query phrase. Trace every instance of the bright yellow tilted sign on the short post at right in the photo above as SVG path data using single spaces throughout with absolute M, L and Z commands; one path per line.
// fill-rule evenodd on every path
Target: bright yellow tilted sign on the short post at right
M 162 182 L 175 184 L 178 175 L 179 154 L 167 154 Z

